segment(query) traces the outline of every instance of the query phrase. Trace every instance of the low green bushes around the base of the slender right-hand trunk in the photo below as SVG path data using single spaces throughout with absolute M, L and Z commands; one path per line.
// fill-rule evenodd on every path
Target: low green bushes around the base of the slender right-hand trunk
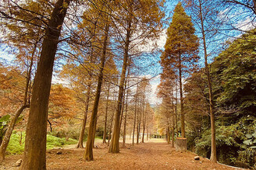
M 218 122 L 217 122 L 218 123 Z M 240 158 L 240 153 L 247 149 L 253 149 L 254 134 L 256 129 L 254 117 L 242 118 L 237 123 L 229 126 L 216 126 L 216 145 L 218 161 L 228 165 L 241 165 L 247 163 Z M 201 138 L 196 140 L 195 151 L 203 157 L 210 157 L 211 154 L 211 130 L 204 130 Z M 251 148 L 249 148 L 251 147 Z M 254 162 L 255 163 L 255 162 Z M 252 165 L 250 163 L 250 165 Z

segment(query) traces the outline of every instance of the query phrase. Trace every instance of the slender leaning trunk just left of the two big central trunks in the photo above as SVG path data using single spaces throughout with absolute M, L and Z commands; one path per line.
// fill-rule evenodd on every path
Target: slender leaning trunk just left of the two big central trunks
M 91 82 L 91 76 L 89 77 L 89 81 Z M 91 95 L 91 83 L 88 85 L 87 88 L 87 97 L 85 101 L 85 111 L 84 111 L 84 119 L 82 121 L 82 128 L 79 135 L 79 140 L 76 145 L 76 148 L 84 148 L 83 141 L 84 141 L 84 131 L 87 123 L 87 114 L 88 114 L 88 108 L 89 108 L 89 102 L 90 102 L 90 95 Z

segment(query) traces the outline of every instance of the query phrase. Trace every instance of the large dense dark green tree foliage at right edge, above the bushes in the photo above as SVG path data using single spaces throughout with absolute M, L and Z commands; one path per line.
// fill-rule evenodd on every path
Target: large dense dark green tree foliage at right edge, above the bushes
M 235 106 L 236 119 L 256 116 L 255 31 L 234 40 L 212 64 L 216 103 L 220 107 Z

